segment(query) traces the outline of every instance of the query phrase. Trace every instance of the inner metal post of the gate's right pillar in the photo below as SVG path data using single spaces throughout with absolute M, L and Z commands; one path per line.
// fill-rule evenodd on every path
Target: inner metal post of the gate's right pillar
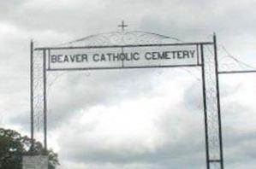
M 205 154 L 206 154 L 206 168 L 210 169 L 209 160 L 209 139 L 208 139 L 208 118 L 207 118 L 207 104 L 206 104 L 206 89 L 205 89 L 205 61 L 203 44 L 200 44 L 201 64 L 202 64 L 202 87 L 203 87 L 203 101 L 205 114 Z

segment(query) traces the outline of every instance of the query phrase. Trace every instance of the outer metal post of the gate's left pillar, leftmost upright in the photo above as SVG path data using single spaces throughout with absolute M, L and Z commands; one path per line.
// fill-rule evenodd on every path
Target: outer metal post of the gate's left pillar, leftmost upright
M 30 120 L 31 120 L 31 151 L 34 150 L 33 139 L 33 40 L 30 42 Z

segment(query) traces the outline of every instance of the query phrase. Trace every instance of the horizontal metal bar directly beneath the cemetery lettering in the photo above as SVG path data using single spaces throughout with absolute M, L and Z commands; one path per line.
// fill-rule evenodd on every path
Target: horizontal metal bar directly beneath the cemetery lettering
M 51 68 L 47 71 L 86 71 L 86 70 L 106 70 L 106 69 L 133 69 L 133 68 L 164 68 L 164 67 L 201 67 L 199 65 L 176 65 L 176 66 L 148 66 L 148 67 L 80 67 L 80 68 Z

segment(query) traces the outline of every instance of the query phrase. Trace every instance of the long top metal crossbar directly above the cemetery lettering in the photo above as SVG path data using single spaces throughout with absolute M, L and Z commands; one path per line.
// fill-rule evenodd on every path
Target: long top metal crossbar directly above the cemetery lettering
M 129 45 L 99 45 L 99 46 L 68 46 L 68 47 L 40 47 L 34 50 L 77 50 L 77 49 L 101 49 L 101 48 L 134 48 L 148 46 L 178 46 L 178 45 L 198 45 L 198 44 L 213 44 L 212 42 L 198 43 L 177 43 L 177 44 L 129 44 Z

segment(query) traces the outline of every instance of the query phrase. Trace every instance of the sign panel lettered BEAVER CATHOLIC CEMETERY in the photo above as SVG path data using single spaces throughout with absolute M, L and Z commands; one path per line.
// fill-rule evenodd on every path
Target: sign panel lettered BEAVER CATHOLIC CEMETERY
M 49 50 L 46 54 L 50 70 L 168 67 L 199 64 L 196 45 L 54 49 Z

